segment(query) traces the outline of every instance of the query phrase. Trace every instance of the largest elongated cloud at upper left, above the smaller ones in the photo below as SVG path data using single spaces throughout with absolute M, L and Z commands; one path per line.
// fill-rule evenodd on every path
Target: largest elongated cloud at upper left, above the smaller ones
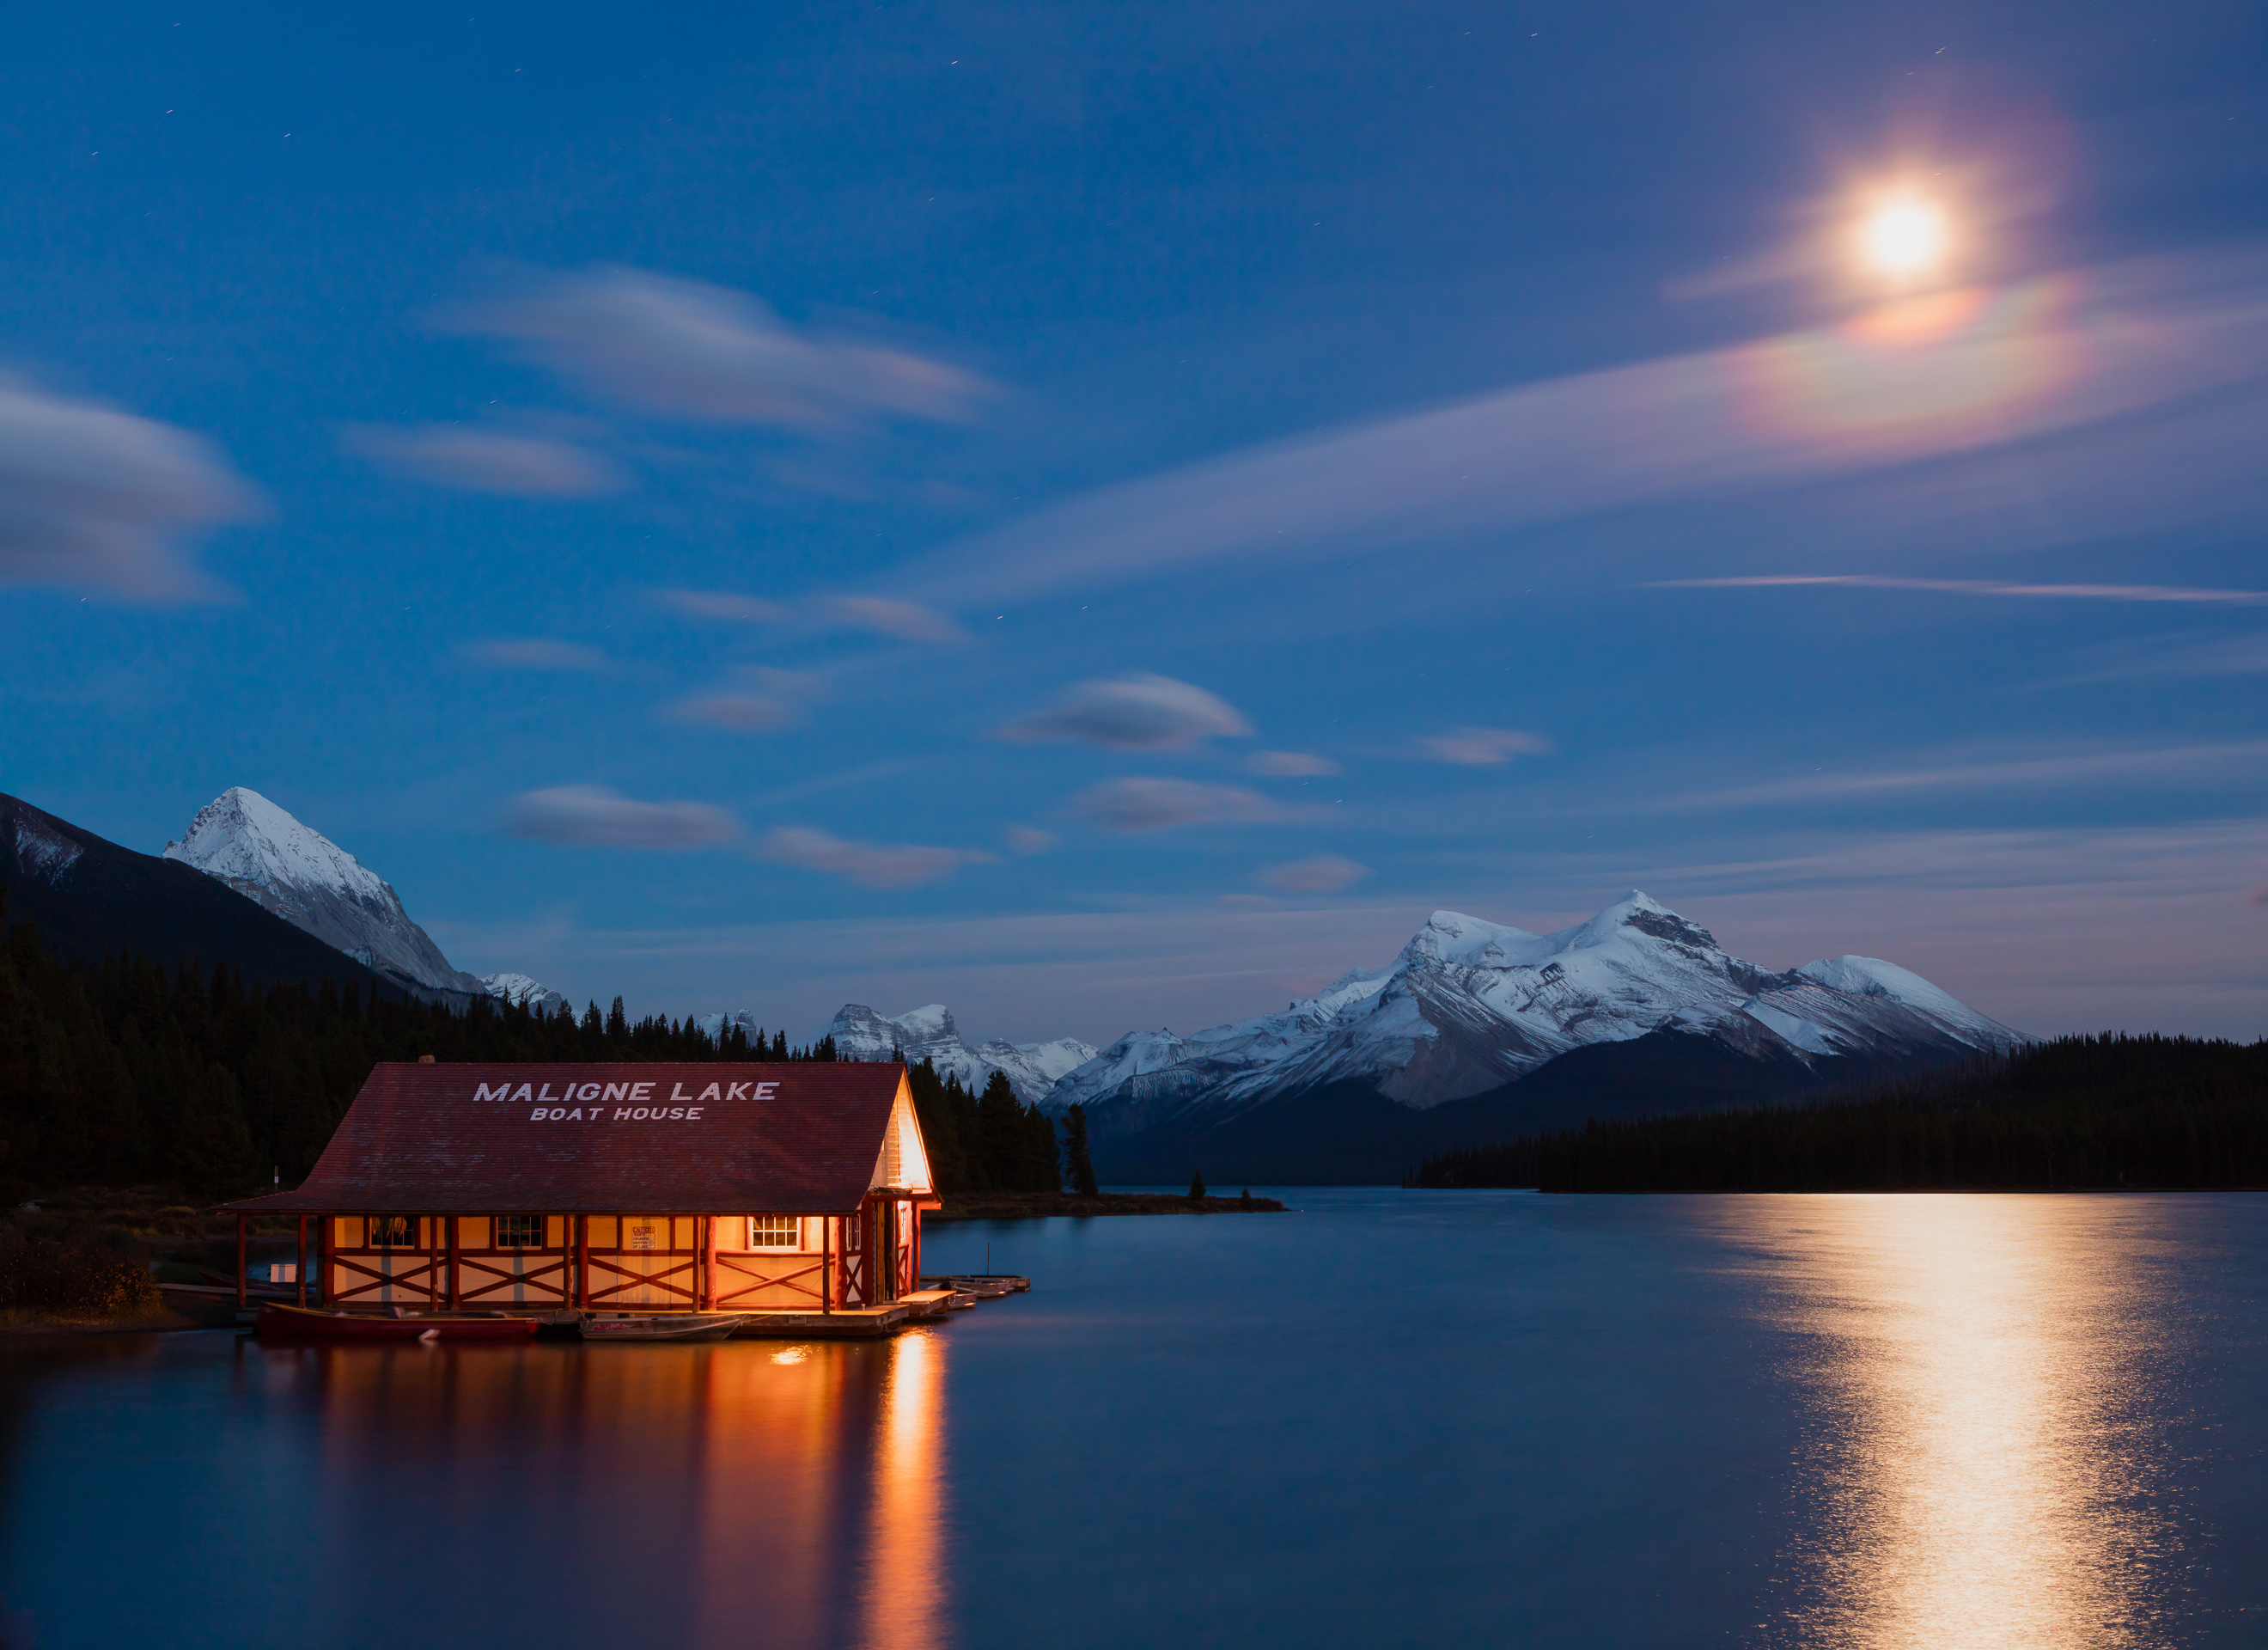
M 553 275 L 440 320 L 506 338 L 592 395 L 674 418 L 794 429 L 959 422 L 993 395 L 943 361 L 798 331 L 751 293 L 612 266 Z

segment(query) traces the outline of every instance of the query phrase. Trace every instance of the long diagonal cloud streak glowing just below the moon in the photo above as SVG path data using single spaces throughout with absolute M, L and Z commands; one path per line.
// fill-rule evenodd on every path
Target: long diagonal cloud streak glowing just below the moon
M 1120 583 L 1222 558 L 1402 554 L 1606 511 L 1903 470 L 2034 443 L 2032 490 L 2114 481 L 2123 502 L 2189 508 L 2257 477 L 2250 443 L 2136 445 L 2141 413 L 2268 381 L 2268 254 L 2073 270 L 1946 293 L 1844 325 L 1529 384 L 1343 424 L 1089 493 L 946 556 L 962 590 Z M 2118 427 L 2112 445 L 2041 438 Z M 2127 497 L 2132 495 L 2132 497 Z M 2005 488 L 1937 499 L 2005 511 Z M 2100 515 L 2098 515 L 2100 517 Z

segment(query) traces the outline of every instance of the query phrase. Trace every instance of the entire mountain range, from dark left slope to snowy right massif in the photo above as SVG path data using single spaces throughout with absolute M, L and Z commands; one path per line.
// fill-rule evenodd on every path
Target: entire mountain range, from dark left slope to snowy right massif
M 526 974 L 456 969 L 376 872 L 240 785 L 163 856 L 0 797 L 0 872 L 9 915 L 73 956 L 565 1008 Z M 728 1021 L 755 1028 L 748 1010 L 699 1024 Z M 1193 1169 L 1216 1185 L 1393 1180 L 1449 1146 L 1796 1101 L 2030 1042 L 1878 958 L 1744 962 L 1642 892 L 1549 935 L 1438 910 L 1388 967 L 1186 1037 L 971 1046 L 941 1003 L 844 1003 L 826 1035 L 848 1060 L 932 1060 L 971 1089 L 1002 1071 L 1030 1105 L 1084 1108 L 1098 1173 L 1118 1185 Z

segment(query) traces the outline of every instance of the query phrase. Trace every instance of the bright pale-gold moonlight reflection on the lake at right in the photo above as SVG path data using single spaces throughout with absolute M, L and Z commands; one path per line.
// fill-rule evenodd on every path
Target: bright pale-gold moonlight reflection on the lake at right
M 1821 1645 L 2155 1643 L 2150 1207 L 1730 1198 L 1808 1396 L 1792 1609 Z

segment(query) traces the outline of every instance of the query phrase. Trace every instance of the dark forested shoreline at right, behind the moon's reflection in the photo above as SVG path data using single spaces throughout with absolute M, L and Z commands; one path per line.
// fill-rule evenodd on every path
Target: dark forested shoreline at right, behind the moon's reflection
M 1413 1187 L 2057 1192 L 2268 1185 L 2268 1042 L 2062 1037 L 1799 1108 L 1470 1146 Z

